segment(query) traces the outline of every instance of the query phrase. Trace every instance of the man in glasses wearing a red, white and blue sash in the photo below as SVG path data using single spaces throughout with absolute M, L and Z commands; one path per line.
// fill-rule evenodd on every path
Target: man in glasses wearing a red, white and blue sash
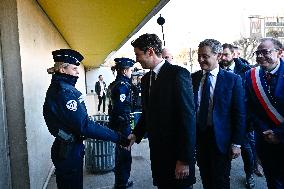
M 284 188 L 284 62 L 282 44 L 261 40 L 258 67 L 246 72 L 248 113 L 254 122 L 256 151 L 269 189 Z

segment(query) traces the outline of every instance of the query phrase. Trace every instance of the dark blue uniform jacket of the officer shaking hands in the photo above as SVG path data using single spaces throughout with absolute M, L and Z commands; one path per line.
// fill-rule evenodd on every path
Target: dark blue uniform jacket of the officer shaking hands
M 80 136 L 111 140 L 119 137 L 113 131 L 99 127 L 87 114 L 82 94 L 75 88 L 78 77 L 67 74 L 54 74 L 46 93 L 43 115 L 49 131 L 55 137 L 58 129 Z

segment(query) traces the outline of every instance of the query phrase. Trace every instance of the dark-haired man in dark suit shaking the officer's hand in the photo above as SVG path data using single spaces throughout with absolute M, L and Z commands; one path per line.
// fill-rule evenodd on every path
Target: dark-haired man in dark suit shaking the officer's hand
M 189 189 L 195 183 L 195 112 L 190 73 L 162 58 L 162 41 L 143 34 L 133 41 L 136 61 L 150 69 L 142 78 L 142 115 L 129 139 L 147 132 L 153 184 Z

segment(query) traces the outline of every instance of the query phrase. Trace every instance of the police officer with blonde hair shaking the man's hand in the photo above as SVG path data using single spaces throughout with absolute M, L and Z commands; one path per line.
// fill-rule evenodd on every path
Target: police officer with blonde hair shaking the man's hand
M 108 140 L 123 146 L 128 139 L 118 132 L 98 125 L 88 114 L 82 94 L 75 88 L 78 66 L 83 56 L 71 49 L 52 52 L 54 67 L 43 105 L 43 116 L 50 133 L 55 137 L 51 158 L 55 166 L 59 189 L 83 188 L 83 138 Z

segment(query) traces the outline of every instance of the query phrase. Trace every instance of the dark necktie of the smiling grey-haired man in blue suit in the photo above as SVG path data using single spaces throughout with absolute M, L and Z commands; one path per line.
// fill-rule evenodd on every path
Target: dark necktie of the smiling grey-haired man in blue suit
M 204 83 L 202 86 L 202 93 L 199 107 L 199 127 L 201 130 L 205 130 L 207 126 L 209 100 L 210 100 L 210 72 L 206 72 Z

